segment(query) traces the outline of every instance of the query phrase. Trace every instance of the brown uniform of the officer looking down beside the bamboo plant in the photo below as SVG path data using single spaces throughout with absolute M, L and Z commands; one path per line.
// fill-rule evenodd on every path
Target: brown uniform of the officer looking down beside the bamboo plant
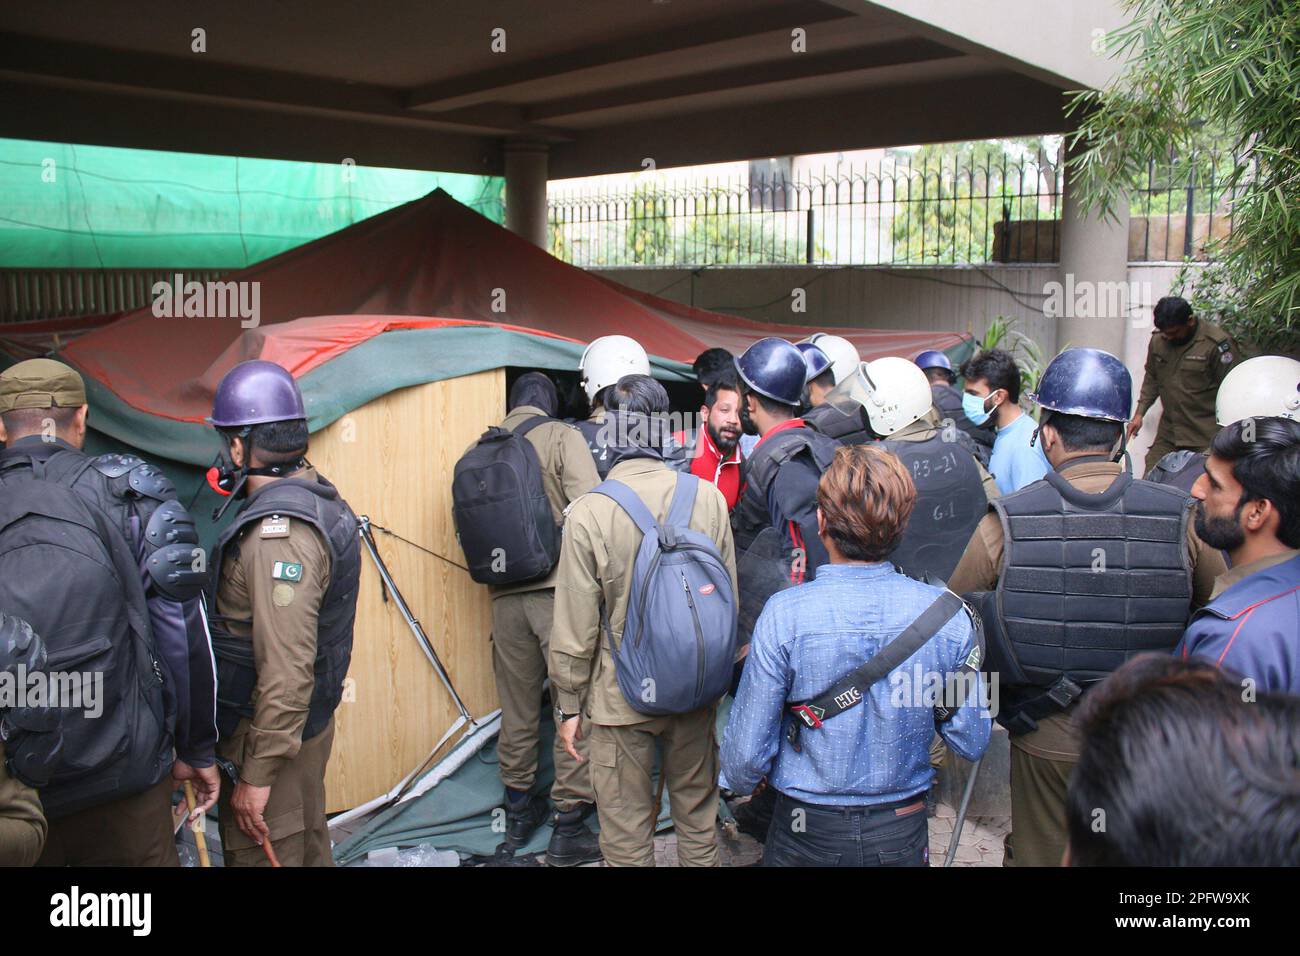
M 1223 329 L 1196 321 L 1190 342 L 1173 345 L 1153 332 L 1147 346 L 1147 371 L 1138 397 L 1138 414 L 1160 399 L 1164 411 L 1156 441 L 1147 453 L 1147 468 L 1178 449 L 1204 451 L 1218 432 L 1214 397 L 1219 382 L 1240 359 L 1240 352 Z

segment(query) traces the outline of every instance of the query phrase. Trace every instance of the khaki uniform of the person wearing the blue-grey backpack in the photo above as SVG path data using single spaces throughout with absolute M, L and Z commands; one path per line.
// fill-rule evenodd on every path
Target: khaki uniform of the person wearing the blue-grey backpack
M 623 460 L 614 466 L 610 477 L 636 492 L 656 518 L 668 514 L 677 476 L 662 462 Z M 736 548 L 727 501 L 712 485 L 701 483 L 690 527 L 718 545 L 734 587 Z M 569 509 L 555 589 L 551 688 L 560 710 L 584 715 L 606 862 L 654 865 L 658 808 L 650 775 L 658 737 L 681 864 L 716 866 L 718 745 L 712 734 L 716 704 L 671 717 L 647 718 L 637 713 L 619 689 L 614 658 L 602 635 L 603 610 L 610 640 L 621 640 L 640 544 L 641 531 L 612 499 L 588 494 Z

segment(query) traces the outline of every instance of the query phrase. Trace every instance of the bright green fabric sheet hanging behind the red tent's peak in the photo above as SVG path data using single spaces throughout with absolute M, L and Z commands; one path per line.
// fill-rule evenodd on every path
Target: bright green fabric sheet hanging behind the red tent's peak
M 0 268 L 238 269 L 439 187 L 503 221 L 500 177 L 0 139 Z

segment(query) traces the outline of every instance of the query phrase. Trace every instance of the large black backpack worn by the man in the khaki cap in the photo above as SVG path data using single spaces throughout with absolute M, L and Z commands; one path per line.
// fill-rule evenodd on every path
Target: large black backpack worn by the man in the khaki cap
M 51 819 L 140 793 L 173 758 L 140 568 L 121 529 L 72 489 L 84 467 L 56 479 L 18 459 L 0 472 L 0 607 L 42 636 L 47 672 L 77 675 L 58 678 L 64 745 L 40 788 Z

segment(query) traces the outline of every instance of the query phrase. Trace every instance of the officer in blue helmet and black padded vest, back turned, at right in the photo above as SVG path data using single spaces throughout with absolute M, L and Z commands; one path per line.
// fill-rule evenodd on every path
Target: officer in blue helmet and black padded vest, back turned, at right
M 1052 470 L 992 502 L 949 587 L 982 592 L 970 600 L 1011 735 L 1008 862 L 1056 866 L 1079 697 L 1134 654 L 1170 650 L 1223 561 L 1196 536 L 1191 498 L 1117 463 L 1132 407 L 1119 359 L 1067 349 L 1030 398 Z

